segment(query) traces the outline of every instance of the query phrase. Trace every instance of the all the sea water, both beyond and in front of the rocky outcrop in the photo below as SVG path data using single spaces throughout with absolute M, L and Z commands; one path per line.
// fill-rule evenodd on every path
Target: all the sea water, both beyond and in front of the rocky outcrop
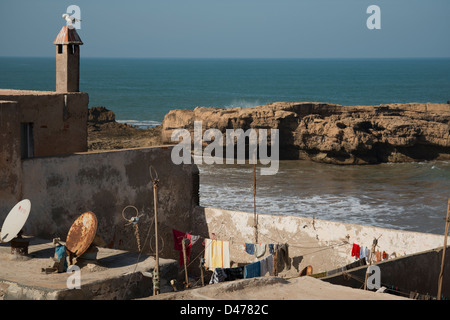
M 0 57 L 0 88 L 55 90 L 54 58 Z M 147 128 L 172 109 L 276 101 L 379 105 L 450 100 L 450 59 L 81 58 L 89 106 Z M 200 204 L 253 212 L 245 165 L 201 165 Z M 443 234 L 450 162 L 336 166 L 281 161 L 257 175 L 259 213 Z

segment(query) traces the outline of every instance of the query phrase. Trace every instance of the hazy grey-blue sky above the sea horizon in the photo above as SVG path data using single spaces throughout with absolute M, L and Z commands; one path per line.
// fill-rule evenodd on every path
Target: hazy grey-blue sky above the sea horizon
M 0 56 L 53 57 L 69 5 L 83 57 L 450 57 L 450 0 L 0 0 Z

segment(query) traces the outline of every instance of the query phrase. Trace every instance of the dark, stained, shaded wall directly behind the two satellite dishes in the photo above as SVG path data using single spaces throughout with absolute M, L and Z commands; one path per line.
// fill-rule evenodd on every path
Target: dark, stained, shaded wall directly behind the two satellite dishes
M 137 251 L 134 229 L 126 226 L 122 217 L 122 210 L 133 205 L 143 215 L 138 224 L 141 244 L 149 234 L 154 248 L 153 184 L 149 173 L 153 166 L 159 177 L 161 256 L 178 257 L 173 250 L 172 228 L 191 227 L 191 209 L 198 202 L 198 169 L 174 165 L 170 154 L 171 148 L 156 147 L 24 160 L 22 193 L 32 204 L 24 231 L 65 240 L 73 221 L 83 212 L 92 211 L 98 219 L 97 234 L 108 247 Z M 135 215 L 134 210 L 125 213 L 129 218 Z M 151 253 L 149 247 L 147 243 L 144 252 Z

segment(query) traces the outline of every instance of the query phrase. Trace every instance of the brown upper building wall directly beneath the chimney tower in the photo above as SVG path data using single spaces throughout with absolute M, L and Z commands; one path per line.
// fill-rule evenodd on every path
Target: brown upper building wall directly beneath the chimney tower
M 17 101 L 19 122 L 33 123 L 36 157 L 87 151 L 87 93 L 0 89 L 0 100 Z

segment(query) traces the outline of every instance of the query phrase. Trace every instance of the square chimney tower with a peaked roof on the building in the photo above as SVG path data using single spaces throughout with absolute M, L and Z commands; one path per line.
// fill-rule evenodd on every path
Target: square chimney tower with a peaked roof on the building
M 68 17 L 63 18 L 67 20 Z M 83 44 L 71 23 L 63 26 L 55 38 L 56 92 L 80 91 L 80 45 Z

